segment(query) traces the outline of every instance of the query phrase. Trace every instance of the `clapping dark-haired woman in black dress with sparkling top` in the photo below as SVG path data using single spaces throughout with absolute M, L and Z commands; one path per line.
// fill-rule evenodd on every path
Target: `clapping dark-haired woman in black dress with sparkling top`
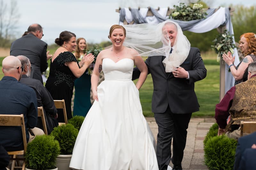
M 94 60 L 92 54 L 85 56 L 79 63 L 72 52 L 76 48 L 76 35 L 69 31 L 60 33 L 55 39 L 60 47 L 55 51 L 50 66 L 50 74 L 45 87 L 51 93 L 53 100 L 65 100 L 68 120 L 72 118 L 71 98 L 74 81 L 81 77 Z M 58 122 L 64 122 L 63 111 L 58 109 Z

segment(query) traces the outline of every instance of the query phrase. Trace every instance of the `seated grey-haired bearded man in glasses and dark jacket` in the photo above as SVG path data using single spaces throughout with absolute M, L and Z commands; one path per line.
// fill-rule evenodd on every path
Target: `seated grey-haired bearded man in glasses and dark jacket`
M 53 99 L 49 91 L 44 87 L 41 81 L 29 78 L 31 73 L 31 64 L 27 57 L 17 56 L 20 59 L 21 67 L 23 67 L 23 72 L 21 73 L 20 82 L 31 87 L 36 92 L 37 106 L 43 106 L 44 117 L 46 121 L 47 132 L 50 134 L 54 127 L 58 126 L 57 121 L 57 109 L 54 105 Z M 41 118 L 38 117 L 37 128 L 43 128 Z

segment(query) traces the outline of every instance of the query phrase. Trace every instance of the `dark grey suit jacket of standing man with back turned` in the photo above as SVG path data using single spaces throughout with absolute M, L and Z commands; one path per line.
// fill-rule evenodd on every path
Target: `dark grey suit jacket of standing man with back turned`
M 46 50 L 47 43 L 33 34 L 28 34 L 12 42 L 10 55 L 28 57 L 33 67 L 30 77 L 40 80 L 43 84 L 41 72 L 48 67 Z

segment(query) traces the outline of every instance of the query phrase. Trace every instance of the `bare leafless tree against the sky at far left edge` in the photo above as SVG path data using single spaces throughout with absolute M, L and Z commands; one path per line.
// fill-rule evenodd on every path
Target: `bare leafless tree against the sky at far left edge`
M 8 1 L 10 6 L 0 1 L 0 47 L 9 47 L 16 24 L 20 19 L 16 0 Z

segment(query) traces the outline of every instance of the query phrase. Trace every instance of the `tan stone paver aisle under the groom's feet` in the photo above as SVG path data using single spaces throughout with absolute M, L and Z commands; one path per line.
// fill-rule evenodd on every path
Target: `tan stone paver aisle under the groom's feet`
M 150 129 L 156 139 L 158 127 L 154 118 L 146 118 Z M 214 118 L 191 118 L 188 125 L 188 135 L 186 148 L 184 150 L 184 157 L 182 160 L 183 170 L 204 170 L 208 169 L 204 165 L 204 136 L 209 128 L 215 122 Z M 171 146 L 172 148 L 172 146 Z M 172 163 L 169 164 L 171 167 Z

